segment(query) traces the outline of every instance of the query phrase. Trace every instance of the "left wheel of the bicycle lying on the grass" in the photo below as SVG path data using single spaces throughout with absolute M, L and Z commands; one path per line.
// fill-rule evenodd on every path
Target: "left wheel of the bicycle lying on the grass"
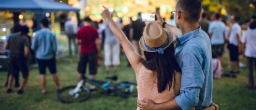
M 82 102 L 90 97 L 90 90 L 81 87 L 78 92 L 73 92 L 76 86 L 67 86 L 57 93 L 58 99 L 63 103 Z

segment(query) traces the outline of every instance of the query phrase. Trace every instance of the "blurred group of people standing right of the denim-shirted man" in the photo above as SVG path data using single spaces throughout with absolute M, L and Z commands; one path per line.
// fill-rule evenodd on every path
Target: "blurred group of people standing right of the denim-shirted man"
M 211 17 L 214 18 L 210 19 Z M 250 48 L 250 52 L 255 52 L 255 49 L 252 49 L 255 47 L 253 44 L 244 46 L 245 41 L 243 41 L 246 38 L 246 32 L 253 30 L 253 27 L 250 27 L 250 24 L 253 24 L 255 20 L 256 16 L 252 16 L 250 21 L 245 23 L 246 26 L 244 26 L 244 24 L 240 24 L 240 18 L 238 16 L 221 16 L 220 13 L 215 13 L 211 16 L 208 16 L 206 12 L 201 14 L 199 25 L 206 33 L 208 33 L 211 41 L 214 78 L 221 78 L 221 76 L 236 78 L 237 73 L 240 73 L 241 62 L 239 61 L 239 56 L 245 56 L 245 53 L 248 54 L 248 51 L 245 52 L 245 47 Z M 246 28 L 242 30 L 242 27 Z M 250 34 L 250 36 L 254 35 Z M 250 38 L 250 40 L 253 41 L 254 39 Z M 223 60 L 223 54 L 225 52 L 229 52 L 228 60 Z M 254 54 L 250 54 L 249 56 L 255 57 Z M 231 68 L 223 68 L 223 63 L 228 63 L 228 67 Z M 252 65 L 253 64 L 247 64 L 247 67 Z M 230 71 L 224 72 L 223 69 L 230 69 Z M 248 76 L 249 80 L 252 80 L 251 78 L 252 76 Z M 248 82 L 250 83 L 252 81 Z M 250 84 L 248 85 L 248 88 L 252 87 L 253 86 L 250 86 Z

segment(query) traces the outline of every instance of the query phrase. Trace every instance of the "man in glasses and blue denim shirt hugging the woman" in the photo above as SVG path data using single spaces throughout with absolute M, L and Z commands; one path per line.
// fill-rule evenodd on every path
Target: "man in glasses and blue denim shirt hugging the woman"
M 156 104 L 149 99 L 139 99 L 142 109 L 204 109 L 212 107 L 213 66 L 210 39 L 199 26 L 200 0 L 179 0 L 172 14 L 178 28 L 166 24 L 158 13 L 157 23 L 178 36 L 175 58 L 181 68 L 180 94 L 171 101 Z

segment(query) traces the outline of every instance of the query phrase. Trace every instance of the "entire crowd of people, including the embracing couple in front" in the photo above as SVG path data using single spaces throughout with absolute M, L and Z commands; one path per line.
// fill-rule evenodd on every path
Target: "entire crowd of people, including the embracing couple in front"
M 69 55 L 72 56 L 73 43 L 74 54 L 79 56 L 78 81 L 85 77 L 87 63 L 90 77 L 96 78 L 102 48 L 105 73 L 110 73 L 110 67 L 117 72 L 122 48 L 129 61 L 127 66 L 132 67 L 136 76 L 137 109 L 218 109 L 212 101 L 213 78 L 237 77 L 240 54 L 247 58 L 248 88 L 255 88 L 255 16 L 242 34 L 238 16 L 224 20 L 220 13 L 215 13 L 214 18 L 209 19 L 199 0 L 179 0 L 166 22 L 159 13 L 155 14 L 156 21 L 142 22 L 141 13 L 138 13 L 138 19 L 126 26 L 122 25 L 121 18 L 114 21 L 112 12 L 106 7 L 101 13 L 104 21 L 99 23 L 85 17 L 77 24 L 69 18 L 65 34 Z M 35 53 L 42 93 L 47 93 L 46 68 L 52 74 L 57 91 L 61 89 L 56 68 L 57 39 L 48 26 L 48 19 L 42 19 L 41 29 L 33 39 L 27 37 L 28 27 L 22 26 L 16 31 L 14 26 L 6 43 L 10 53 L 7 93 L 12 92 L 13 77 L 19 87 L 17 93 L 23 93 L 29 76 L 29 52 Z M 222 64 L 227 61 L 223 59 L 223 54 L 228 52 L 226 48 L 231 69 L 224 73 Z M 20 86 L 16 78 L 19 71 L 23 74 Z M 94 90 L 95 86 L 90 89 Z

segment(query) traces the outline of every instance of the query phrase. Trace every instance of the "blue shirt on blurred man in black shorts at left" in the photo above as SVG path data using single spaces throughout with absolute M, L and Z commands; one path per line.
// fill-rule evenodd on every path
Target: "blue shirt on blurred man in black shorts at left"
M 42 28 L 33 37 L 31 48 L 37 59 L 52 59 L 57 52 L 56 35 L 49 28 Z

